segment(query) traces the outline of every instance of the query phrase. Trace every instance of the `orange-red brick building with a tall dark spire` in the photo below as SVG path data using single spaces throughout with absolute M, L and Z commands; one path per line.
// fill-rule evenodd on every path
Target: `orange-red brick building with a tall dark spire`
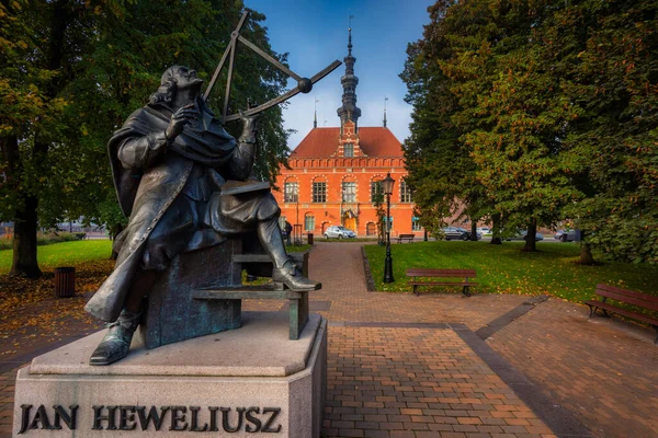
M 411 192 L 405 183 L 402 148 L 386 127 L 360 127 L 356 84 L 350 30 L 342 106 L 338 108 L 340 128 L 314 128 L 292 152 L 282 168 L 274 196 L 282 209 L 282 223 L 288 221 L 304 233 L 324 234 L 329 226 L 344 226 L 359 237 L 376 235 L 373 195 L 381 191 L 387 173 L 396 181 L 390 196 L 390 235 L 422 235 L 416 218 Z

